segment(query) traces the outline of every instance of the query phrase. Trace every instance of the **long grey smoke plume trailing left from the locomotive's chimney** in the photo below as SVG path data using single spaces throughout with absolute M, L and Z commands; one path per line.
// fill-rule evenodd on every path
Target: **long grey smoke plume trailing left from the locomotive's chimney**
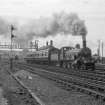
M 0 35 L 7 35 L 10 26 L 7 21 L 0 18 Z M 27 43 L 34 37 L 55 36 L 58 33 L 63 35 L 86 35 L 87 30 L 83 20 L 75 13 L 56 13 L 51 17 L 40 17 L 27 22 L 24 25 L 15 24 L 16 38 L 14 41 L 18 43 Z

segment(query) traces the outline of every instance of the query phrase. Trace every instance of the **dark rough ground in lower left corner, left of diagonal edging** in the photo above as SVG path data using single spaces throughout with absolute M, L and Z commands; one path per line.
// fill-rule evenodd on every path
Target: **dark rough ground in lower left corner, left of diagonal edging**
M 6 71 L 0 68 L 0 105 L 39 105 Z

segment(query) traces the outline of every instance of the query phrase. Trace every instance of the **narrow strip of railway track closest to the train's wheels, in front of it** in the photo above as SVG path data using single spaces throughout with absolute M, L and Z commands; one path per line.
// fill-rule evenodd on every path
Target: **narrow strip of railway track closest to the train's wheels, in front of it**
M 68 69 L 63 69 L 63 68 L 59 68 L 59 67 L 52 67 L 52 66 L 47 66 L 47 65 L 32 65 L 32 64 L 26 64 L 26 63 L 19 63 L 18 64 L 23 64 L 23 65 L 27 65 L 27 66 L 31 66 L 31 67 L 37 67 L 37 68 L 41 68 L 41 69 L 45 69 L 51 72 L 57 72 L 57 73 L 63 73 L 63 74 L 67 74 L 67 75 L 75 75 L 75 76 L 79 76 L 81 78 L 88 78 L 88 79 L 93 79 L 96 81 L 103 81 L 105 82 L 105 74 L 104 73 L 100 73 L 100 72 L 95 72 L 95 71 L 75 71 L 75 70 L 68 70 Z

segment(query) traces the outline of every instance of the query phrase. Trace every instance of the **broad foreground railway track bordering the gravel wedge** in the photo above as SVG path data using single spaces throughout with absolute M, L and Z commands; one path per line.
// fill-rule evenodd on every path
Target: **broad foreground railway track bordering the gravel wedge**
M 15 67 L 19 69 L 28 70 L 31 73 L 38 74 L 44 78 L 55 81 L 60 84 L 66 90 L 75 89 L 77 91 L 86 93 L 88 95 L 94 96 L 96 98 L 101 98 L 105 101 L 105 81 L 97 80 L 93 78 L 81 78 L 80 76 L 67 75 L 63 73 L 57 73 L 52 71 L 46 71 L 41 68 L 34 68 L 32 66 L 27 66 L 26 64 L 15 64 Z M 101 77 L 102 79 L 102 77 Z

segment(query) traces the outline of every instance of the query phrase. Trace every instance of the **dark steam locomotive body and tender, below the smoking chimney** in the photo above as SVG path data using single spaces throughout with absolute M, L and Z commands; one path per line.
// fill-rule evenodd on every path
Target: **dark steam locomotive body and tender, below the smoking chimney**
M 69 50 L 70 49 L 70 50 Z M 94 60 L 89 48 L 70 48 L 63 47 L 60 50 L 60 66 L 74 69 L 92 69 L 95 68 Z

